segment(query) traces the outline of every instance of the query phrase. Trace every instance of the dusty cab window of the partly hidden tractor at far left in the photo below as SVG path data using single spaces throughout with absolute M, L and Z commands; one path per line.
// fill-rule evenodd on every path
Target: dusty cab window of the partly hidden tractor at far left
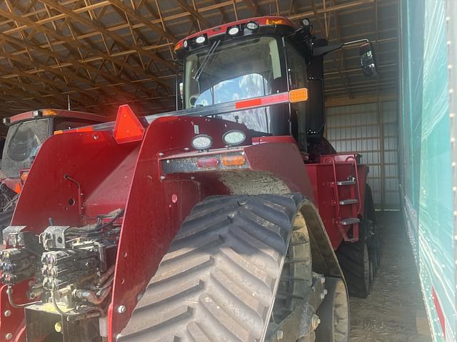
M 31 120 L 12 125 L 6 135 L 1 170 L 8 177 L 19 177 L 28 169 L 39 147 L 49 135 L 49 119 Z

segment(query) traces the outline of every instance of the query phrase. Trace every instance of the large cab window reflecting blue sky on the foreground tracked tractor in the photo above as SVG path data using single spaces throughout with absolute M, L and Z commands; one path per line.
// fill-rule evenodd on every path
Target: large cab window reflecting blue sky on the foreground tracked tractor
M 224 41 L 212 53 L 208 51 L 186 57 L 185 108 L 255 98 L 281 90 L 281 61 L 276 38 L 263 36 Z M 271 133 L 271 108 L 268 107 L 216 116 L 243 123 L 251 130 Z

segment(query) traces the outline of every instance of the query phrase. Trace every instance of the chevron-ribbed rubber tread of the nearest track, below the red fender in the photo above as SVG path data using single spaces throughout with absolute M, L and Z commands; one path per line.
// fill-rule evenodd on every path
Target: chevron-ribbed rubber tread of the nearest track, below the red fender
M 301 199 L 196 204 L 117 341 L 261 341 Z

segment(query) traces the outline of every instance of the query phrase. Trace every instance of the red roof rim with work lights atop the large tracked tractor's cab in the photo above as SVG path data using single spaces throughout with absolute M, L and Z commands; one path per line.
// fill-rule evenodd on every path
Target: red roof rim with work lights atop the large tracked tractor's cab
M 248 28 L 247 24 L 251 22 L 255 25 L 253 25 L 253 28 Z M 259 16 L 256 18 L 242 19 L 238 21 L 232 21 L 228 24 L 208 28 L 204 31 L 194 33 L 191 36 L 187 36 L 186 38 L 181 39 L 181 41 L 176 43 L 174 46 L 174 52 L 178 55 L 184 54 L 184 51 L 191 48 L 192 45 L 195 45 L 193 43 L 199 37 L 204 37 L 205 40 L 202 41 L 202 43 L 197 41 L 196 44 L 201 44 L 201 46 L 204 46 L 207 41 L 209 41 L 211 38 L 214 38 L 215 36 L 231 36 L 229 30 L 234 27 L 238 27 L 238 33 L 236 33 L 234 36 L 241 36 L 246 33 L 245 31 L 249 31 L 249 33 L 256 33 L 256 31 L 259 31 L 262 28 L 274 28 L 276 26 L 288 26 L 291 29 L 296 28 L 296 25 L 293 24 L 292 21 L 283 16 Z

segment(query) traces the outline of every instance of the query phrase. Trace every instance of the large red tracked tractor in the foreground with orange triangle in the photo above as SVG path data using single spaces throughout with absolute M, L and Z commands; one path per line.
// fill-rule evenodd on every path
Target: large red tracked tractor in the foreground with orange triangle
M 0 338 L 347 342 L 378 242 L 366 166 L 323 139 L 342 45 L 278 16 L 201 31 L 174 48 L 184 109 L 46 140 L 3 234 Z

